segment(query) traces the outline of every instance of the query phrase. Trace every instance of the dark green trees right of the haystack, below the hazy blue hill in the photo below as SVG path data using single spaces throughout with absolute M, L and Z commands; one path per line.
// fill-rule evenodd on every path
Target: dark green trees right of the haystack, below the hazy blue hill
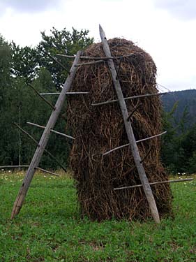
M 170 112 L 163 112 L 163 129 L 167 130 L 167 134 L 162 139 L 161 157 L 169 172 L 195 173 L 196 125 L 191 129 L 186 128 L 187 107 L 179 122 L 176 122 L 174 114 L 178 105 L 179 102 L 176 102 Z

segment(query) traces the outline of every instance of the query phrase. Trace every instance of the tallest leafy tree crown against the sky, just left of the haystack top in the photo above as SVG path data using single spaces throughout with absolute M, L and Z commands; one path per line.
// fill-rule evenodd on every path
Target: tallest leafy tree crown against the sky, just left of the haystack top
M 91 45 L 91 43 L 93 43 L 93 38 L 88 36 L 88 30 L 77 31 L 74 28 L 73 31 L 70 32 L 67 31 L 66 28 L 59 31 L 53 27 L 51 33 L 51 36 L 47 36 L 45 32 L 41 33 L 43 40 L 37 48 L 40 54 L 39 65 L 50 71 L 56 89 L 61 90 L 70 69 L 70 61 L 63 57 L 58 57 L 58 60 L 66 68 L 63 69 L 59 64 L 54 64 L 54 61 L 47 56 L 47 53 L 51 54 L 53 57 L 55 57 L 56 54 L 73 55 L 76 54 L 78 50 L 82 50 L 88 45 Z

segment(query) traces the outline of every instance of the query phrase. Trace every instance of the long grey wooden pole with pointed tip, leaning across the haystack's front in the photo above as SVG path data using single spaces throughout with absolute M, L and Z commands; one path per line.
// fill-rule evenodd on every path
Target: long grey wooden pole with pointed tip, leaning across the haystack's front
M 110 52 L 110 47 L 107 43 L 107 38 L 105 36 L 105 32 L 103 31 L 102 27 L 99 27 L 99 29 L 100 29 L 100 38 L 101 38 L 102 43 L 103 43 L 103 50 L 105 52 L 105 55 L 106 55 L 106 57 L 112 57 L 112 54 Z M 144 193 L 146 194 L 146 198 L 147 198 L 147 201 L 149 203 L 149 208 L 151 210 L 151 214 L 152 214 L 154 221 L 156 223 L 160 223 L 158 209 L 156 207 L 156 201 L 153 197 L 153 193 L 152 193 L 151 187 L 149 185 L 149 180 L 146 177 L 144 166 L 141 163 L 141 157 L 140 157 L 140 153 L 139 153 L 136 141 L 135 141 L 133 129 L 132 129 L 132 126 L 130 124 L 130 121 L 127 121 L 128 110 L 126 108 L 126 102 L 123 98 L 123 92 L 121 90 L 120 82 L 119 82 L 118 79 L 116 79 L 116 69 L 115 69 L 115 66 L 114 66 L 114 61 L 112 59 L 109 59 L 107 61 L 107 63 L 108 63 L 108 66 L 110 68 L 110 72 L 112 74 L 112 80 L 113 80 L 114 88 L 116 90 L 116 95 L 117 95 L 118 100 L 119 100 L 121 112 L 122 112 L 122 115 L 123 115 L 123 121 L 124 121 L 124 125 L 126 127 L 126 133 L 127 133 L 127 136 L 128 136 L 128 141 L 130 143 L 130 148 L 131 148 L 131 151 L 133 153 L 135 165 L 137 166 L 137 171 L 139 173 L 140 180 L 142 182 L 142 186 L 144 188 Z

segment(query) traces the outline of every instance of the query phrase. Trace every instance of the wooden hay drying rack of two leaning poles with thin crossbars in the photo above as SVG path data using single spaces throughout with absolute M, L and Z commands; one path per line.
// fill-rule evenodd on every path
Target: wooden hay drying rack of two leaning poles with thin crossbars
M 139 152 L 138 147 L 137 147 L 137 143 L 140 143 L 141 141 L 148 140 L 148 139 L 151 139 L 151 138 L 155 138 L 157 136 L 161 136 L 164 133 L 166 133 L 166 131 L 163 132 L 163 133 L 157 134 L 156 136 L 151 136 L 149 138 L 144 138 L 142 140 L 137 140 L 136 141 L 134 133 L 133 133 L 133 128 L 132 128 L 132 125 L 131 125 L 131 122 L 130 122 L 130 117 L 137 110 L 138 106 L 133 110 L 133 112 L 130 112 L 130 114 L 128 114 L 128 110 L 127 110 L 127 107 L 126 107 L 126 100 L 128 100 L 128 99 L 138 99 L 138 98 L 148 97 L 148 96 L 159 96 L 159 95 L 167 94 L 167 93 L 144 94 L 144 95 L 140 95 L 140 96 L 130 96 L 128 98 L 124 98 L 122 90 L 121 90 L 121 85 L 120 85 L 120 82 L 119 82 L 119 78 L 118 78 L 119 69 L 121 67 L 121 59 L 123 57 L 112 57 L 112 54 L 111 54 L 111 51 L 110 51 L 110 47 L 109 47 L 109 45 L 107 43 L 107 38 L 105 37 L 105 32 L 103 31 L 102 27 L 100 27 L 99 29 L 100 29 L 100 38 L 101 38 L 102 43 L 103 43 L 103 50 L 105 52 L 105 57 L 82 57 L 82 52 L 81 51 L 78 51 L 75 56 L 67 56 L 67 55 L 59 54 L 59 56 L 74 58 L 73 65 L 71 66 L 70 71 L 68 72 L 68 78 L 66 79 L 66 82 L 63 85 L 61 93 L 43 93 L 43 94 L 39 94 L 36 91 L 36 89 L 34 89 L 34 87 L 32 85 L 30 85 L 31 88 L 36 92 L 36 94 L 38 94 L 38 96 L 40 96 L 40 98 L 43 99 L 43 101 L 45 101 L 45 103 L 50 105 L 50 107 L 52 108 L 52 113 L 50 115 L 50 119 L 48 120 L 46 126 L 40 126 L 38 124 L 33 124 L 31 122 L 27 122 L 27 124 L 31 124 L 33 126 L 37 126 L 37 127 L 41 128 L 41 129 L 44 129 L 43 135 L 41 136 L 39 142 L 37 140 L 35 140 L 32 136 L 30 136 L 29 133 L 24 131 L 24 129 L 22 129 L 19 125 L 15 124 L 17 126 L 17 128 L 20 129 L 20 131 L 26 133 L 26 135 L 29 136 L 29 138 L 31 138 L 34 141 L 34 143 L 36 143 L 37 148 L 36 148 L 36 152 L 34 153 L 33 158 L 31 160 L 31 163 L 30 163 L 29 166 L 1 166 L 0 167 L 0 168 L 28 167 L 27 173 L 26 173 L 26 175 L 24 177 L 24 180 L 22 182 L 22 187 L 20 188 L 20 191 L 19 191 L 19 193 L 17 195 L 17 198 L 15 199 L 15 203 L 13 205 L 13 211 L 12 211 L 12 214 L 11 214 L 11 219 L 13 219 L 15 217 L 15 215 L 17 215 L 20 212 L 20 209 L 22 208 L 22 204 L 24 202 L 24 198 L 27 195 L 27 191 L 28 191 L 29 186 L 31 184 L 31 180 L 33 179 L 33 175 L 36 172 L 36 169 L 43 170 L 44 172 L 50 173 L 51 175 L 57 175 L 55 173 L 52 173 L 50 171 L 47 171 L 47 170 L 44 170 L 43 168 L 39 168 L 38 167 L 38 165 L 40 163 L 40 159 L 43 156 L 44 152 L 47 152 L 47 154 L 50 154 L 50 157 L 52 157 L 52 159 L 57 161 L 57 163 L 59 163 L 59 166 L 61 166 L 61 168 L 63 168 L 63 170 L 66 171 L 66 168 L 64 168 L 61 165 L 61 163 L 50 152 L 45 150 L 45 147 L 46 147 L 47 142 L 48 142 L 48 140 L 50 138 L 50 133 L 51 132 L 57 133 L 57 134 L 59 134 L 61 136 L 69 138 L 69 139 L 73 139 L 73 140 L 75 139 L 75 138 L 73 138 L 71 136 L 68 136 L 68 135 L 66 135 L 64 133 L 60 133 L 58 131 L 55 131 L 53 128 L 54 128 L 54 125 L 56 124 L 56 120 L 59 117 L 59 114 L 61 112 L 61 108 L 63 107 L 63 103 L 64 103 L 64 101 L 66 99 L 66 95 L 67 94 L 71 94 L 71 95 L 72 94 L 88 94 L 88 92 L 69 92 L 70 87 L 71 87 L 72 82 L 73 82 L 73 79 L 75 78 L 75 73 L 76 73 L 77 68 L 79 66 L 85 66 L 85 65 L 89 65 L 89 64 L 97 64 L 97 63 L 102 63 L 104 61 L 107 61 L 107 64 L 108 64 L 108 66 L 110 68 L 110 73 L 112 75 L 113 85 L 114 85 L 114 89 L 116 91 L 117 99 L 116 100 L 112 100 L 112 101 L 105 101 L 105 102 L 102 102 L 102 103 L 94 103 L 92 105 L 93 106 L 99 106 L 99 105 L 105 105 L 105 104 L 108 104 L 108 103 L 119 102 L 120 109 L 121 109 L 121 114 L 122 114 L 122 117 L 123 117 L 123 122 L 124 122 L 124 126 L 126 128 L 126 133 L 127 133 L 127 137 L 128 137 L 128 142 L 129 143 L 126 144 L 126 145 L 121 145 L 120 147 L 116 147 L 116 148 L 114 148 L 114 149 L 112 149 L 110 151 L 107 151 L 107 152 L 103 153 L 103 156 L 105 156 L 106 154 L 110 154 L 110 152 L 113 152 L 114 150 L 118 150 L 119 148 L 130 146 L 131 152 L 132 152 L 134 160 L 135 160 L 135 166 L 137 167 L 137 171 L 138 171 L 138 174 L 140 176 L 140 181 L 142 182 L 142 184 L 137 184 L 137 185 L 133 185 L 133 186 L 130 186 L 130 187 L 114 188 L 114 190 L 129 189 L 129 188 L 133 188 L 133 187 L 143 187 L 144 193 L 146 195 L 146 199 L 147 199 L 147 201 L 149 203 L 149 208 L 151 210 L 151 215 L 152 215 L 152 217 L 153 217 L 153 219 L 154 219 L 154 221 L 156 223 L 160 223 L 160 217 L 159 217 L 159 214 L 158 214 L 158 209 L 156 207 L 156 201 L 155 201 L 153 193 L 151 191 L 151 185 L 153 185 L 153 184 L 164 184 L 164 183 L 168 183 L 168 182 L 182 182 L 182 181 L 187 181 L 187 180 L 188 181 L 193 180 L 192 178 L 189 178 L 189 179 L 185 179 L 185 180 L 167 180 L 167 181 L 162 181 L 162 182 L 149 183 L 149 180 L 146 177 L 144 166 L 142 164 L 144 159 L 146 157 L 148 157 L 149 152 L 147 152 L 147 154 L 144 157 L 144 159 L 141 159 L 140 152 Z M 51 59 L 53 61 L 55 61 L 60 66 L 65 68 L 54 57 L 52 57 L 50 54 L 48 54 L 48 55 L 51 57 Z M 128 56 L 131 56 L 131 54 L 128 55 Z M 81 60 L 82 59 L 83 60 L 85 60 L 85 59 L 92 59 L 93 61 L 88 62 L 88 63 L 80 63 L 80 59 Z M 113 61 L 114 59 L 119 59 L 119 68 L 118 68 L 117 71 L 116 71 L 116 68 L 114 66 L 114 61 Z M 47 101 L 47 99 L 45 99 L 43 97 L 43 96 L 46 96 L 46 95 L 59 95 L 59 98 L 57 99 L 56 104 L 52 105 L 52 103 Z

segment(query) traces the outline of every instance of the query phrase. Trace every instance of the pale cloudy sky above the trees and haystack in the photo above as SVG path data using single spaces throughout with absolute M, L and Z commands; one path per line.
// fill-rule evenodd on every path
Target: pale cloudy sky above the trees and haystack
M 0 0 L 0 34 L 21 46 L 36 46 L 52 27 L 88 29 L 100 42 L 99 24 L 107 38 L 126 38 L 151 54 L 158 84 L 196 89 L 195 0 Z

